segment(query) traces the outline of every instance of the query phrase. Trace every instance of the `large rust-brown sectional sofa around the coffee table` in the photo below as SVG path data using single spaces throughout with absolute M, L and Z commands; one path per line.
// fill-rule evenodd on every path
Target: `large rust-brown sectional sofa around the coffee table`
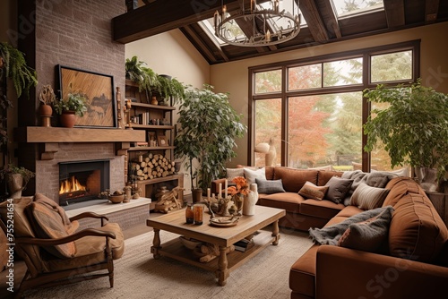
M 266 179 L 281 178 L 286 192 L 259 194 L 257 204 L 285 209 L 280 226 L 299 230 L 327 227 L 363 212 L 356 206 L 305 199 L 309 181 L 322 186 L 340 172 L 266 167 Z M 213 184 L 223 183 L 224 179 Z M 426 193 L 412 179 L 393 178 L 383 207 L 394 212 L 388 242 L 364 252 L 314 244 L 291 261 L 291 298 L 448 298 L 448 229 Z

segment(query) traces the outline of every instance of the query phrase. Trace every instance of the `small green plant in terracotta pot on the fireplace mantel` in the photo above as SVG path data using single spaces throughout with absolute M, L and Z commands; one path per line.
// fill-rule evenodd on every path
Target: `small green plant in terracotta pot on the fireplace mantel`
M 73 128 L 75 115 L 83 116 L 87 111 L 89 98 L 82 92 L 69 92 L 66 98 L 56 100 L 54 107 L 60 115 L 61 124 L 67 128 Z

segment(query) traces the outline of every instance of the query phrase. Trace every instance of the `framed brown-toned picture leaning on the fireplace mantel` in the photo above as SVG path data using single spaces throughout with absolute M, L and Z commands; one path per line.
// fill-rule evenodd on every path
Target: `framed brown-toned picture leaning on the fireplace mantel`
M 113 76 L 61 64 L 56 65 L 56 73 L 59 98 L 66 98 L 69 92 L 82 92 L 89 98 L 87 112 L 76 115 L 75 127 L 116 128 Z

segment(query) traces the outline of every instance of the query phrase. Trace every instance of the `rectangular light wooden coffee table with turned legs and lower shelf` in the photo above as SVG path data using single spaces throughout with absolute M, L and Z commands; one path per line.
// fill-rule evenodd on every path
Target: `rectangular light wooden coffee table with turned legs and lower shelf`
M 201 226 L 185 223 L 185 209 L 180 209 L 168 214 L 146 220 L 146 225 L 154 228 L 154 240 L 151 252 L 154 259 L 167 256 L 177 261 L 183 261 L 190 265 L 210 270 L 216 273 L 218 284 L 225 286 L 230 271 L 237 269 L 255 254 L 261 252 L 270 243 L 279 243 L 279 219 L 285 216 L 284 209 L 274 209 L 262 206 L 255 207 L 254 216 L 242 216 L 236 226 L 217 227 L 209 225 L 209 216 L 204 214 L 204 222 Z M 259 229 L 272 224 L 272 233 L 260 231 L 254 236 L 254 246 L 246 252 L 229 252 L 228 247 L 248 235 L 254 235 Z M 209 262 L 200 262 L 194 251 L 187 249 L 179 238 L 160 243 L 159 231 L 165 230 L 178 235 L 185 235 L 202 242 L 216 244 L 220 248 L 220 256 Z

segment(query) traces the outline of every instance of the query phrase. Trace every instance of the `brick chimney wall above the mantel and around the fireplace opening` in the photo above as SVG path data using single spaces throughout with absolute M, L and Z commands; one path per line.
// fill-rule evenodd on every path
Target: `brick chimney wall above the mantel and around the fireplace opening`
M 56 88 L 57 64 L 112 75 L 125 90 L 125 45 L 112 40 L 112 19 L 122 13 L 124 0 L 36 1 L 38 95 L 43 85 Z M 36 192 L 58 198 L 58 162 L 103 158 L 111 158 L 110 189 L 123 188 L 125 158 L 113 143 L 60 143 L 53 160 L 36 161 Z

